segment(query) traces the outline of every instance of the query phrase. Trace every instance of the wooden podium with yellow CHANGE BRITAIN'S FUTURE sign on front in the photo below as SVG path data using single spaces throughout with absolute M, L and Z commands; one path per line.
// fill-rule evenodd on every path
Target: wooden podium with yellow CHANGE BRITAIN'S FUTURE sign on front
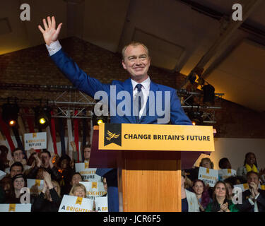
M 117 169 L 120 212 L 181 212 L 181 169 L 212 151 L 212 126 L 100 124 L 89 165 Z

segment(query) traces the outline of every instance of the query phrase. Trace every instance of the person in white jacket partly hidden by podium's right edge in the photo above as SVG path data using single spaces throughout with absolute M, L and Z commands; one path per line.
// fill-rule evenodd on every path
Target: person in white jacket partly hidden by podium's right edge
M 196 195 L 185 189 L 185 173 L 182 171 L 181 193 L 182 193 L 182 212 L 199 212 L 199 204 Z

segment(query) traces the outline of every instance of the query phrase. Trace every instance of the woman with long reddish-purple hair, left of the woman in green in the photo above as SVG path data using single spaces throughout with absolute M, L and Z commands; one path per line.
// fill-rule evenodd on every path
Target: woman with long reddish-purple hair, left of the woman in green
M 208 194 L 208 189 L 206 188 L 204 182 L 201 179 L 196 179 L 194 185 L 192 186 L 196 198 L 198 199 L 198 204 L 201 212 L 204 212 L 208 203 L 211 202 L 211 198 Z

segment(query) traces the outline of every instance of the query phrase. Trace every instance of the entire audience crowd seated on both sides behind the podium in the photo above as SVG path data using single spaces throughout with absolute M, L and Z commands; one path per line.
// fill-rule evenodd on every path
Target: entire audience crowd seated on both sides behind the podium
M 27 186 L 27 179 L 43 180 L 44 186 L 39 191 L 36 186 L 30 188 L 30 203 L 32 211 L 57 212 L 61 198 L 69 196 L 87 197 L 86 187 L 82 182 L 82 176 L 75 170 L 76 148 L 74 143 L 73 158 L 68 155 L 61 157 L 52 155 L 48 150 L 40 153 L 30 150 L 28 160 L 20 148 L 12 152 L 13 162 L 8 162 L 8 148 L 0 145 L 1 171 L 8 172 L 0 181 L 0 203 L 20 203 L 23 195 L 20 190 Z M 90 146 L 83 148 L 84 162 L 90 160 Z M 9 167 L 10 165 L 10 167 Z M 199 163 L 199 167 L 213 169 L 213 162 L 205 157 Z M 244 164 L 237 169 L 237 174 L 216 182 L 211 187 L 203 180 L 198 179 L 199 167 L 182 170 L 182 212 L 264 212 L 265 191 L 261 185 L 265 182 L 265 169 L 259 169 L 254 153 L 245 155 Z M 232 169 L 228 158 L 219 161 L 220 169 Z M 107 191 L 107 181 L 102 177 L 102 182 Z M 241 202 L 233 201 L 234 186 L 248 184 L 248 189 L 242 192 Z M 94 203 L 95 206 L 95 203 Z

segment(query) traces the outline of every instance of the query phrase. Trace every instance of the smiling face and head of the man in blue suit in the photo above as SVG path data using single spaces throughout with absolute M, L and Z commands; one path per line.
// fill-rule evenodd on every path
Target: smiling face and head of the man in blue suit
M 148 78 L 148 69 L 150 66 L 150 57 L 148 51 L 143 45 L 129 45 L 124 51 L 122 66 L 131 75 L 131 79 L 141 83 Z

